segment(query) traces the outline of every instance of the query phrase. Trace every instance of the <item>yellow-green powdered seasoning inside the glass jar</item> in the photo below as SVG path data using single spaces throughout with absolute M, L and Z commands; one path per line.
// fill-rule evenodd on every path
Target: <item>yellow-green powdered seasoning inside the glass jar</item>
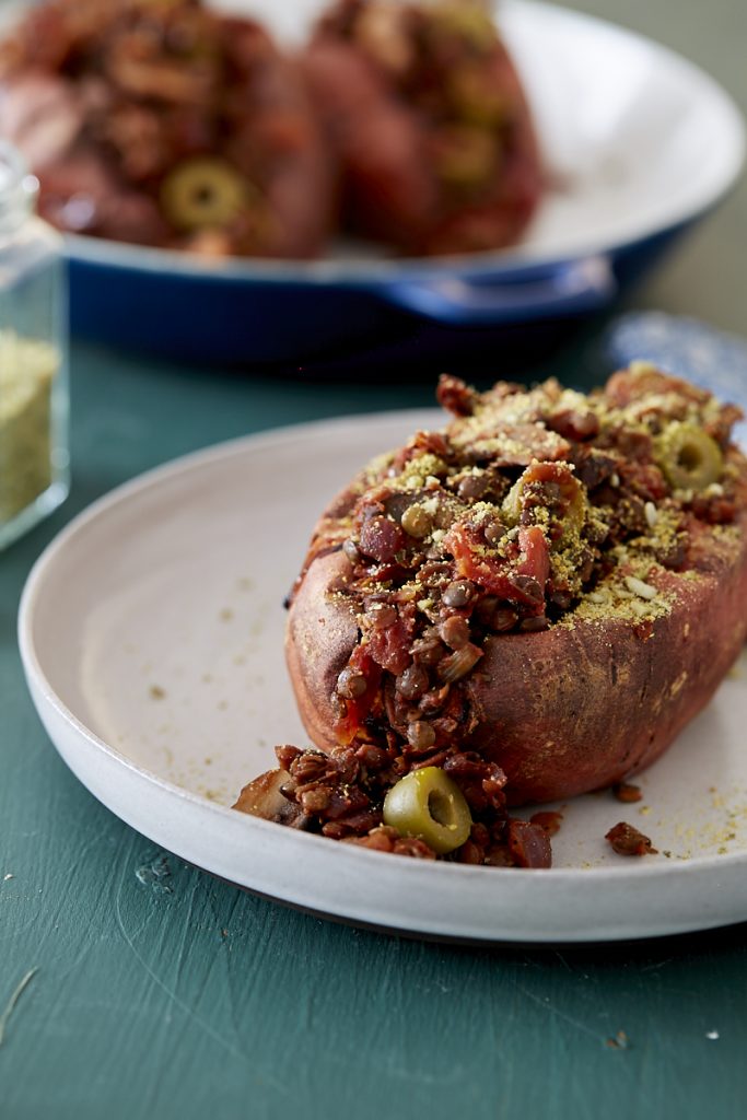
M 52 484 L 52 386 L 58 367 L 49 343 L 0 330 L 0 523 Z

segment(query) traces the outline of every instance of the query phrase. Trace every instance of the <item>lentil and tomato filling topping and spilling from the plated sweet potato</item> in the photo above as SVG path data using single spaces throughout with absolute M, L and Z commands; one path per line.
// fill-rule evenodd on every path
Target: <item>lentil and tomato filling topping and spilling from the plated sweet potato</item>
M 382 806 L 405 775 L 438 767 L 473 820 L 439 858 L 548 867 L 559 815 L 511 815 L 506 775 L 474 741 L 469 681 L 496 636 L 614 618 L 645 640 L 672 609 L 662 573 L 698 578 L 691 539 L 703 526 L 740 533 L 745 460 L 730 431 L 741 413 L 645 362 L 589 395 L 554 380 L 480 394 L 445 375 L 438 400 L 451 423 L 355 479 L 319 522 L 291 594 L 317 558 L 344 553 L 328 595 L 358 636 L 332 698 L 337 745 L 278 748 L 276 809 L 256 782 L 236 808 L 436 858 Z

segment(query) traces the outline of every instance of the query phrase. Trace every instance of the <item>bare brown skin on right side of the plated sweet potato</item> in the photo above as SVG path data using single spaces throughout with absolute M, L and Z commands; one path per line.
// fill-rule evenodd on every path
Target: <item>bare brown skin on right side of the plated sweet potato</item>
M 485 643 L 467 682 L 473 744 L 508 776 L 510 803 L 555 801 L 645 769 L 706 707 L 747 633 L 741 534 L 699 543 L 695 578 L 660 572 L 669 614 L 573 619 Z

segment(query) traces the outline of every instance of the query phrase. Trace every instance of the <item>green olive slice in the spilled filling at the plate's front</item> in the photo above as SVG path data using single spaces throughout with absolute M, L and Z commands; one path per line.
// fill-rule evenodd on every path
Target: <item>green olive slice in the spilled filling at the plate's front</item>
M 384 799 L 384 824 L 424 840 L 438 856 L 468 840 L 471 823 L 461 790 L 438 766 L 411 771 Z

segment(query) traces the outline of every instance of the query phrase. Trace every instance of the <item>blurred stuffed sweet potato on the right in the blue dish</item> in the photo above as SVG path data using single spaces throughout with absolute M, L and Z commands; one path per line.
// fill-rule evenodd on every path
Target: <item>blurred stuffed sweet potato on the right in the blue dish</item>
M 342 166 L 348 230 L 414 254 L 517 240 L 542 174 L 484 0 L 338 0 L 302 63 Z

